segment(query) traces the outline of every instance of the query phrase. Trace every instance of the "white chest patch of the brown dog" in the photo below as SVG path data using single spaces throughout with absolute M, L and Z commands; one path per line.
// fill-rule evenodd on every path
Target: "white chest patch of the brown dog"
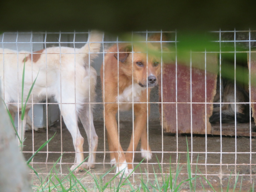
M 145 87 L 141 87 L 137 83 L 133 84 L 133 92 L 132 92 L 132 84 L 126 87 L 123 93 L 119 94 L 118 96 L 119 102 L 121 102 L 119 104 L 119 109 L 122 111 L 126 111 L 132 108 L 132 94 L 133 94 L 133 102 L 140 102 L 140 96 L 142 94 L 142 91 L 144 91 L 145 89 L 146 89 Z M 117 98 L 116 98 L 116 101 L 118 101 Z

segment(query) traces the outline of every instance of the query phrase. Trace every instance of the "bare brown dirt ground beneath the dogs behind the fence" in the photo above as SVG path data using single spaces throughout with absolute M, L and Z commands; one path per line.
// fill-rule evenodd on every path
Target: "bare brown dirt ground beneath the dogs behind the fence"
M 109 153 L 108 153 L 108 144 L 107 140 L 104 140 L 104 126 L 103 122 L 95 122 L 96 133 L 99 137 L 97 155 L 96 155 L 96 166 L 91 171 L 94 174 L 102 174 L 108 171 L 110 167 Z M 84 140 L 84 151 L 88 151 L 88 142 L 86 138 L 86 134 L 81 124 L 79 125 L 82 136 L 85 138 Z M 52 135 L 56 132 L 55 137 L 48 144 L 48 153 L 47 147 L 45 147 L 41 152 L 36 154 L 33 160 L 33 167 L 36 170 L 40 169 L 41 173 L 48 173 L 52 168 L 53 163 L 55 163 L 61 155 L 61 143 L 62 143 L 62 152 L 64 153 L 62 156 L 62 164 L 61 164 L 61 173 L 67 174 L 69 173 L 68 167 L 70 167 L 74 163 L 74 147 L 70 133 L 68 132 L 65 124 L 62 123 L 62 129 L 60 128 L 60 124 L 56 124 L 50 128 L 48 128 L 48 139 L 52 137 Z M 228 183 L 228 178 L 230 173 L 234 174 L 235 167 L 236 173 L 239 172 L 240 175 L 243 175 L 243 188 L 246 190 L 249 188 L 250 181 L 256 181 L 256 139 L 252 138 L 252 148 L 251 151 L 254 152 L 251 154 L 251 171 L 250 171 L 250 138 L 249 137 L 230 137 L 230 136 L 207 136 L 207 147 L 205 143 L 205 135 L 195 135 L 191 138 L 191 135 L 181 135 L 177 137 L 176 135 L 163 134 L 162 137 L 162 128 L 159 122 L 149 122 L 149 144 L 151 146 L 153 152 L 152 160 L 144 161 L 140 164 L 140 168 L 142 173 L 145 173 L 146 170 L 149 173 L 149 179 L 154 179 L 153 175 L 155 172 L 159 173 L 159 166 L 157 164 L 157 158 L 159 162 L 163 165 L 163 172 L 170 173 L 170 156 L 171 156 L 171 167 L 172 172 L 176 172 L 176 163 L 179 161 L 180 167 L 183 165 L 181 169 L 181 173 L 179 176 L 179 180 L 187 179 L 188 176 L 183 173 L 187 173 L 187 144 L 186 144 L 186 136 L 188 140 L 188 148 L 189 151 L 193 151 L 192 153 L 192 161 L 190 156 L 190 161 L 193 164 L 192 172 L 196 171 L 196 160 L 198 157 L 197 167 L 202 174 L 207 174 L 207 179 L 210 181 L 212 186 L 215 188 L 220 188 L 220 173 L 222 172 L 222 186 L 225 188 Z M 34 151 L 36 151 L 45 141 L 46 141 L 47 131 L 45 129 L 40 129 L 38 132 L 34 132 Z M 130 138 L 132 135 L 132 123 L 131 122 L 120 122 L 120 141 L 123 149 L 125 150 L 130 142 Z M 32 153 L 32 132 L 26 132 L 26 140 L 25 147 L 23 149 L 25 158 L 28 159 Z M 62 140 L 61 140 L 62 137 Z M 107 138 L 107 137 L 105 137 Z M 177 141 L 178 139 L 178 141 Z M 192 148 L 191 148 L 191 140 L 192 140 Z M 222 156 L 220 156 L 220 148 L 222 143 Z M 236 145 L 235 145 L 236 143 Z M 236 148 L 235 148 L 236 146 Z M 141 161 L 140 156 L 140 144 L 137 148 L 138 153 L 135 153 L 134 158 L 134 167 Z M 207 156 L 205 155 L 205 150 L 207 150 Z M 105 152 L 104 152 L 105 151 Z M 163 152 L 162 152 L 163 151 Z M 237 153 L 235 153 L 235 151 Z M 227 153 L 229 152 L 229 153 Z M 231 152 L 231 153 L 230 153 Z M 239 152 L 248 152 L 247 154 L 239 154 Z M 85 157 L 88 153 L 85 153 Z M 177 158 L 178 155 L 178 158 Z M 222 160 L 222 166 L 220 169 L 220 160 Z M 47 164 L 45 163 L 47 162 Z M 207 165 L 205 165 L 207 164 Z M 235 166 L 236 164 L 236 166 Z M 153 170 L 154 167 L 154 170 Z M 109 174 L 108 177 L 113 177 L 114 170 Z M 135 180 L 134 182 L 140 181 L 139 177 L 140 169 L 135 171 Z M 78 176 L 84 174 L 84 172 L 76 173 Z M 136 179 L 137 178 L 137 179 Z M 160 178 L 160 175 L 159 175 Z M 107 180 L 107 179 L 106 179 Z M 85 177 L 85 182 L 92 182 L 92 178 Z M 235 176 L 231 177 L 231 186 L 234 185 Z M 238 186 L 240 186 L 241 177 L 238 180 Z M 201 187 L 200 182 L 198 183 L 198 188 Z M 205 184 L 206 185 L 206 184 Z M 186 189 L 186 188 L 185 188 Z

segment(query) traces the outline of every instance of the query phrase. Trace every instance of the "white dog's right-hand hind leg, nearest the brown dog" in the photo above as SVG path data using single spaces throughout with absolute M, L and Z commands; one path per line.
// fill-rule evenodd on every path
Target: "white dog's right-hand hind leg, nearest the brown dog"
M 93 113 L 89 110 L 89 105 L 84 105 L 82 111 L 78 113 L 81 123 L 84 126 L 84 130 L 87 134 L 88 144 L 89 144 L 89 157 L 88 163 L 83 163 L 82 166 L 85 169 L 94 168 L 95 158 L 96 158 L 96 150 L 98 147 L 98 136 L 95 132 L 94 124 L 93 124 Z M 91 115 L 91 117 L 90 117 Z M 91 127 L 90 127 L 91 123 Z

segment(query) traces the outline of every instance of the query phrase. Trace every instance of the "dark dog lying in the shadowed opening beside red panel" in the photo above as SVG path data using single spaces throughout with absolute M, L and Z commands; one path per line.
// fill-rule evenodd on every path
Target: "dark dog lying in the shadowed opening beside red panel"
M 235 93 L 236 93 L 236 108 L 235 108 Z M 221 96 L 221 97 L 220 97 Z M 220 112 L 221 100 L 221 112 Z M 247 93 L 238 83 L 232 80 L 221 78 L 221 95 L 220 95 L 220 77 L 217 78 L 216 95 L 214 96 L 213 111 L 210 117 L 210 123 L 235 123 L 235 114 L 237 123 L 250 122 L 250 105 L 249 93 Z M 219 103 L 219 104 L 217 104 Z

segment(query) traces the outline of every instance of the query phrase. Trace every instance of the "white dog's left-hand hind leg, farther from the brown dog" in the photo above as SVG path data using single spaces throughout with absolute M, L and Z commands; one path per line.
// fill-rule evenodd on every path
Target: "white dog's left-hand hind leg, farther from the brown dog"
M 76 151 L 76 163 L 72 165 L 70 169 L 71 171 L 75 170 L 75 172 L 79 172 L 80 170 L 83 170 L 82 165 L 80 165 L 79 167 L 77 166 L 84 161 L 84 138 L 80 134 L 77 126 L 76 106 L 74 104 L 62 104 L 60 108 L 63 120 L 68 128 L 68 131 L 71 133 L 74 148 Z

